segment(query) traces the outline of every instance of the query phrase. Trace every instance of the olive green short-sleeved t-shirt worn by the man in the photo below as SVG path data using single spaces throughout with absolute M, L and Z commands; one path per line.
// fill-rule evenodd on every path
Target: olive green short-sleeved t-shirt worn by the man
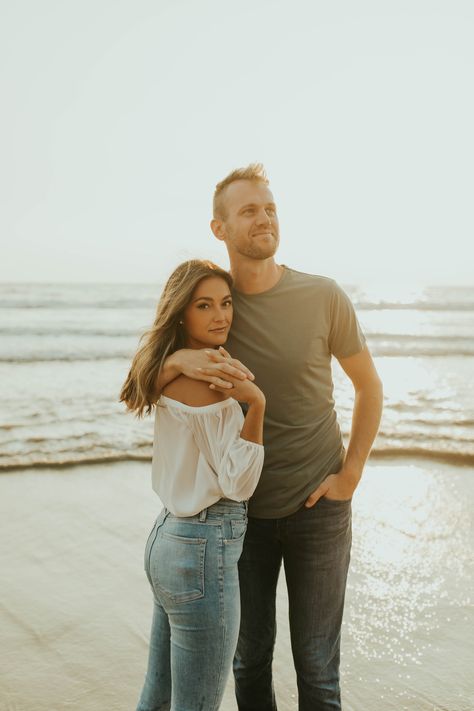
M 281 518 L 342 464 L 331 357 L 358 353 L 365 338 L 349 297 L 326 277 L 284 267 L 271 289 L 234 289 L 233 302 L 226 349 L 255 374 L 267 400 L 265 463 L 249 514 Z

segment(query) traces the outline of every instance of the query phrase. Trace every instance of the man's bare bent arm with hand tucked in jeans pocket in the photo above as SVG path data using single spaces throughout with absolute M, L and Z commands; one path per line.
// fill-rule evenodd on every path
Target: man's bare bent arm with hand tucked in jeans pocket
M 339 363 L 355 390 L 349 445 L 342 469 L 326 477 L 308 497 L 305 504 L 308 507 L 314 506 L 321 496 L 329 499 L 351 498 L 362 476 L 382 416 L 382 382 L 368 348 L 349 358 L 340 358 Z

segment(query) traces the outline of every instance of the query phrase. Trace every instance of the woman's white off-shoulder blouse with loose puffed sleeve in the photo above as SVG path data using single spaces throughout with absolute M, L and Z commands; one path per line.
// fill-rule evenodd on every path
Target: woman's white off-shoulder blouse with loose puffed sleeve
M 219 499 L 245 501 L 263 466 L 263 445 L 240 437 L 244 415 L 233 398 L 191 407 L 162 395 L 155 410 L 152 484 L 175 516 Z

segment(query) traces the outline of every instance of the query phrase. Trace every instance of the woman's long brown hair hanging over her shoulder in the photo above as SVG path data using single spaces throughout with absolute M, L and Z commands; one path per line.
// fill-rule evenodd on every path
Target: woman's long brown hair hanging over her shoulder
M 156 401 L 156 381 L 165 359 L 185 346 L 185 332 L 180 321 L 194 290 L 202 279 L 221 277 L 229 288 L 232 277 L 221 267 L 201 259 L 180 264 L 166 282 L 156 309 L 152 328 L 143 334 L 120 392 L 120 401 L 142 417 L 149 415 Z

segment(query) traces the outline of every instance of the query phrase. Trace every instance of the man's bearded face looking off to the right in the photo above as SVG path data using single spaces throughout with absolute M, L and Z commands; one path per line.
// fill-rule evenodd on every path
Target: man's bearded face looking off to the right
M 266 185 L 236 180 L 223 195 L 225 217 L 219 220 L 221 239 L 229 254 L 268 259 L 275 254 L 280 230 L 273 195 Z

